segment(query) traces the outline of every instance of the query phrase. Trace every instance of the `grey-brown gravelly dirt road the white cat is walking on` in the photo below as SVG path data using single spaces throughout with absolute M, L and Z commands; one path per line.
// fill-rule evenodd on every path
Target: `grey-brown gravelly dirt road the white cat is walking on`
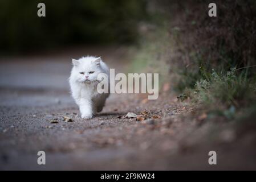
M 80 118 L 67 82 L 71 58 L 101 56 L 122 72 L 129 64 L 126 52 L 100 47 L 2 57 L 0 169 L 256 169 L 255 130 L 198 118 L 172 94 L 162 93 L 156 101 L 112 94 L 101 113 Z M 125 118 L 128 112 L 148 119 Z M 63 116 L 74 122 L 64 122 Z M 37 164 L 41 150 L 46 165 Z M 208 163 L 212 150 L 217 165 Z

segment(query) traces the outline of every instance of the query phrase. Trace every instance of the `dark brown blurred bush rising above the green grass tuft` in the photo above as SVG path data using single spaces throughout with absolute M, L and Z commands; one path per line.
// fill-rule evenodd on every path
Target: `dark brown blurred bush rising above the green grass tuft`
M 178 91 L 194 88 L 212 69 L 227 73 L 234 67 L 256 65 L 256 1 L 214 1 L 217 17 L 213 18 L 208 16 L 212 1 L 164 2 L 162 7 L 168 7 L 167 19 L 172 24 L 170 36 L 176 53 L 170 59 L 180 76 Z M 255 76 L 255 68 L 250 68 L 247 77 Z

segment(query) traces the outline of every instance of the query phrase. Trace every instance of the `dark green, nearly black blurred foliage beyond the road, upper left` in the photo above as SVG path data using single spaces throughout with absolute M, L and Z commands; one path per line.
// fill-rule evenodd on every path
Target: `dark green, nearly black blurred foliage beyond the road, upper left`
M 38 17 L 38 3 L 46 17 Z M 86 44 L 130 43 L 137 23 L 146 16 L 145 1 L 0 1 L 0 51 Z

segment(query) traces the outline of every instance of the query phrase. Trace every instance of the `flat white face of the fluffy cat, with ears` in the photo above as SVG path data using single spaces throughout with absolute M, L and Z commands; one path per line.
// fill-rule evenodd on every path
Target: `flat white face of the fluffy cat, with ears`
M 73 59 L 73 76 L 75 80 L 86 84 L 96 81 L 97 75 L 101 73 L 100 61 L 100 57 L 86 57 L 79 60 Z

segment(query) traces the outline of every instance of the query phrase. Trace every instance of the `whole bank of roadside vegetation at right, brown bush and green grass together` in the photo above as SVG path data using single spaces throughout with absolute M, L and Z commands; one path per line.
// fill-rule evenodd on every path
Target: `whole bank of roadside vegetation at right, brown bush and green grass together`
M 141 34 L 134 70 L 159 71 L 178 100 L 226 118 L 249 108 L 256 101 L 256 1 L 216 0 L 217 17 L 209 17 L 208 0 L 155 2 L 160 13 Z

